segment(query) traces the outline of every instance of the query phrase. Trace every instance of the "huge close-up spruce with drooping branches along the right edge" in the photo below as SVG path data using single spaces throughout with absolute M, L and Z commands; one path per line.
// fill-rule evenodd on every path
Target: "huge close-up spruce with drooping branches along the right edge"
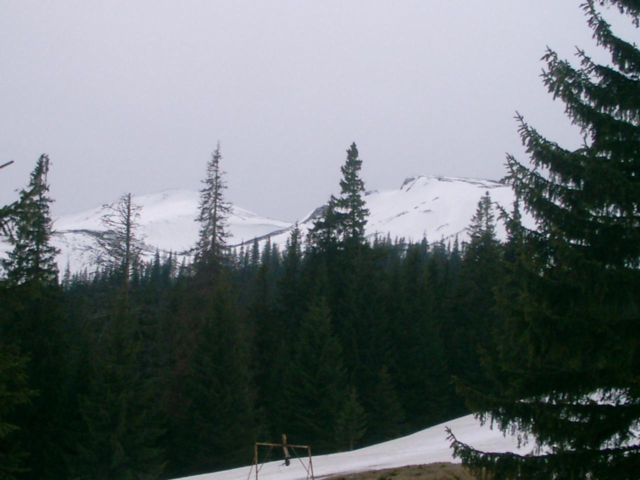
M 481 452 L 452 437 L 456 456 L 483 477 L 632 479 L 640 470 L 640 51 L 614 35 L 599 8 L 607 5 L 637 28 L 640 4 L 582 5 L 610 65 L 584 51 L 580 67 L 551 50 L 544 57 L 544 82 L 584 145 L 561 148 L 520 118 L 531 166 L 508 157 L 538 228 L 511 223 L 500 348 L 485 359 L 495 385 L 466 393 L 481 419 L 528 434 L 541 450 Z

